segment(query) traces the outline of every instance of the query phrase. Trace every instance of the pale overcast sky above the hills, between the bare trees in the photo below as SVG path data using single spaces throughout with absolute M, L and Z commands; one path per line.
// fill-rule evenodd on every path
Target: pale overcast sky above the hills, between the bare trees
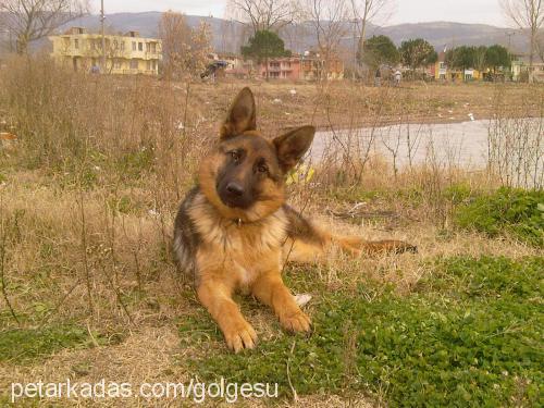
M 94 12 L 100 0 L 91 0 Z M 175 10 L 193 15 L 223 17 L 226 0 L 104 0 L 106 13 Z M 506 26 L 498 0 L 396 0 L 395 12 L 383 25 L 450 21 Z

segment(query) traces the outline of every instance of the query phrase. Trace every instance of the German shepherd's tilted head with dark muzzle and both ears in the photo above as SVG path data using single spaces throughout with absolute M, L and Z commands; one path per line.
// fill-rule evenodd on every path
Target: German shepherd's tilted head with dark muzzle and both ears
M 219 145 L 201 162 L 200 188 L 225 218 L 252 222 L 270 215 L 284 203 L 285 175 L 314 133 L 304 126 L 265 139 L 257 131 L 254 95 L 244 88 L 221 126 Z

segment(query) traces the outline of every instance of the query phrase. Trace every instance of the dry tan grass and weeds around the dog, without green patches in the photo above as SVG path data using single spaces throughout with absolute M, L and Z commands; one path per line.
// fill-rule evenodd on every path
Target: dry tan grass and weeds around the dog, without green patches
M 106 338 L 122 338 L 94 348 L 62 350 L 26 364 L 2 362 L 0 388 L 36 379 L 122 379 L 134 384 L 189 380 L 184 358 L 194 351 L 180 343 L 176 324 L 199 313 L 200 306 L 172 262 L 172 222 L 177 203 L 193 184 L 198 159 L 243 85 L 247 84 L 94 77 L 54 70 L 48 61 L 14 61 L 0 73 L 0 119 L 18 136 L 17 144 L 0 150 L 5 163 L 0 173 L 3 275 L 18 323 L 2 311 L 0 327 L 73 322 Z M 490 99 L 495 91 L 489 84 L 409 84 L 399 89 L 348 82 L 324 88 L 250 85 L 258 98 L 260 124 L 269 136 L 308 122 L 322 127 L 384 124 L 398 120 L 399 112 L 409 121 L 434 121 L 448 109 L 455 110 L 456 120 L 465 119 L 468 109 L 485 118 L 492 114 Z M 288 92 L 293 88 L 295 96 Z M 534 95 L 526 86 L 507 86 L 504 91 L 510 101 Z M 282 102 L 275 103 L 276 98 Z M 531 100 L 526 103 L 529 111 Z M 458 183 L 487 188 L 489 177 L 458 169 L 426 169 L 400 173 L 392 183 L 384 172 L 383 163 L 373 158 L 362 176 L 350 174 L 338 186 L 334 169 L 318 166 L 312 185 L 292 188 L 293 201 L 305 213 L 319 214 L 325 224 L 341 225 L 336 231 L 369 239 L 406 239 L 417 244 L 420 254 L 360 260 L 333 254 L 326 264 L 311 269 L 311 275 L 290 270 L 295 281 L 305 282 L 300 287 L 349 293 L 371 276 L 409 293 L 429 272 L 426 262 L 437 257 L 536 255 L 536 249 L 515 242 L 450 228 L 452 205 L 441 200 L 441 194 Z M 346 213 L 359 202 L 354 190 L 361 186 L 384 195 L 369 199 L 362 205 L 362 215 L 349 222 L 331 215 Z M 421 200 L 416 202 L 409 194 L 392 198 L 392 193 L 407 190 L 406 186 L 418 187 Z M 337 187 L 344 188 L 343 195 Z M 376 211 L 386 215 L 366 217 Z M 319 292 L 313 295 L 319 299 Z M 269 311 L 261 308 L 249 313 L 261 338 L 275 333 Z M 119 400 L 100 403 L 115 404 L 123 406 Z M 295 406 L 344 404 L 369 406 L 357 396 L 329 395 L 300 398 Z

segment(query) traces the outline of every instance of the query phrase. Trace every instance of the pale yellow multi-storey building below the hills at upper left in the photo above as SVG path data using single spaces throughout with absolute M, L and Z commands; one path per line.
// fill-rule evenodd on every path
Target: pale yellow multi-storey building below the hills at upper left
M 87 33 L 85 28 L 72 27 L 65 34 L 50 36 L 53 45 L 51 57 L 75 71 L 101 71 L 102 37 Z M 111 74 L 159 73 L 162 60 L 160 39 L 144 38 L 138 32 L 124 35 L 106 35 L 106 71 Z

